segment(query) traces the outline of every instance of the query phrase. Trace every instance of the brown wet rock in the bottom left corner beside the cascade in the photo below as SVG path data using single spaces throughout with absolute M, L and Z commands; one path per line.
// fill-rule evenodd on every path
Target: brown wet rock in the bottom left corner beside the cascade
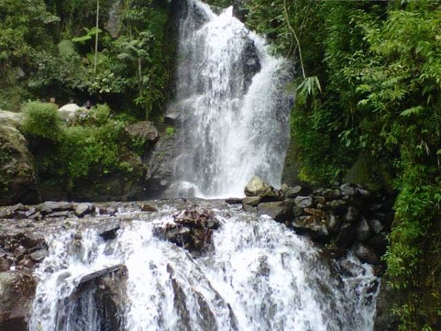
M 31 272 L 0 272 L 0 330 L 28 330 L 35 288 Z

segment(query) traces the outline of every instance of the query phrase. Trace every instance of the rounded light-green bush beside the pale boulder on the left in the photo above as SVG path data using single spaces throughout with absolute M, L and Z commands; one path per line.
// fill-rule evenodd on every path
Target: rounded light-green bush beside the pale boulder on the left
M 23 107 L 23 113 L 22 130 L 26 135 L 54 142 L 61 140 L 57 106 L 52 103 L 29 102 Z

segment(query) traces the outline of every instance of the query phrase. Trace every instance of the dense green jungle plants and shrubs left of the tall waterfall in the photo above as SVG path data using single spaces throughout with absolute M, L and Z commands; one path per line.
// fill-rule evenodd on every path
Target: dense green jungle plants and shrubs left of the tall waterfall
M 142 177 L 133 160 L 143 142 L 125 127 L 163 118 L 176 57 L 172 17 L 162 0 L 0 0 L 0 109 L 24 112 L 43 190 Z M 62 123 L 51 98 L 94 107 L 88 121 Z

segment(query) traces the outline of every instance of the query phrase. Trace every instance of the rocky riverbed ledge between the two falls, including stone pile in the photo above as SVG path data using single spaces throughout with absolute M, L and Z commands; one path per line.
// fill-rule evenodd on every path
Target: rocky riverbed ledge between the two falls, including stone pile
M 0 208 L 0 330 L 12 330 L 11 325 L 14 330 L 27 330 L 39 282 L 34 274 L 48 256 L 46 239 L 50 234 L 73 231 L 74 241 L 81 243 L 81 233 L 94 229 L 104 241 L 112 241 L 134 221 L 151 221 L 166 214 L 171 214 L 172 220 L 155 225 L 156 237 L 185 248 L 194 258 L 209 252 L 212 234 L 221 226 L 213 208 L 223 210 L 224 215 L 232 209 L 256 216 L 266 214 L 309 237 L 321 247 L 322 263 L 332 264 L 332 260 L 342 261 L 347 254 L 355 254 L 361 261 L 374 265 L 374 272 L 382 273 L 380 258 L 393 219 L 390 205 L 382 197 L 349 184 L 320 190 L 283 185 L 276 190 L 258 177 L 249 182 L 245 194 L 244 199 L 225 201 L 48 201 Z M 338 272 L 353 274 L 353 263 L 340 262 Z M 106 323 L 121 325 L 114 312 L 122 309 L 125 281 L 121 279 L 125 277 L 127 270 L 123 264 L 112 265 L 81 278 L 77 292 L 86 291 L 91 283 L 107 288 L 96 294 L 94 300 L 103 303 L 100 314 L 107 316 Z M 119 329 L 115 326 L 108 330 Z

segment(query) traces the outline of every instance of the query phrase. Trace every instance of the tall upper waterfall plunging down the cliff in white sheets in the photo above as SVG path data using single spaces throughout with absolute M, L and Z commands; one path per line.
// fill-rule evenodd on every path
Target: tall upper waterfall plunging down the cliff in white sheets
M 289 142 L 289 66 L 233 17 L 188 0 L 181 18 L 176 102 L 181 154 L 172 193 L 243 195 L 254 175 L 274 186 Z

